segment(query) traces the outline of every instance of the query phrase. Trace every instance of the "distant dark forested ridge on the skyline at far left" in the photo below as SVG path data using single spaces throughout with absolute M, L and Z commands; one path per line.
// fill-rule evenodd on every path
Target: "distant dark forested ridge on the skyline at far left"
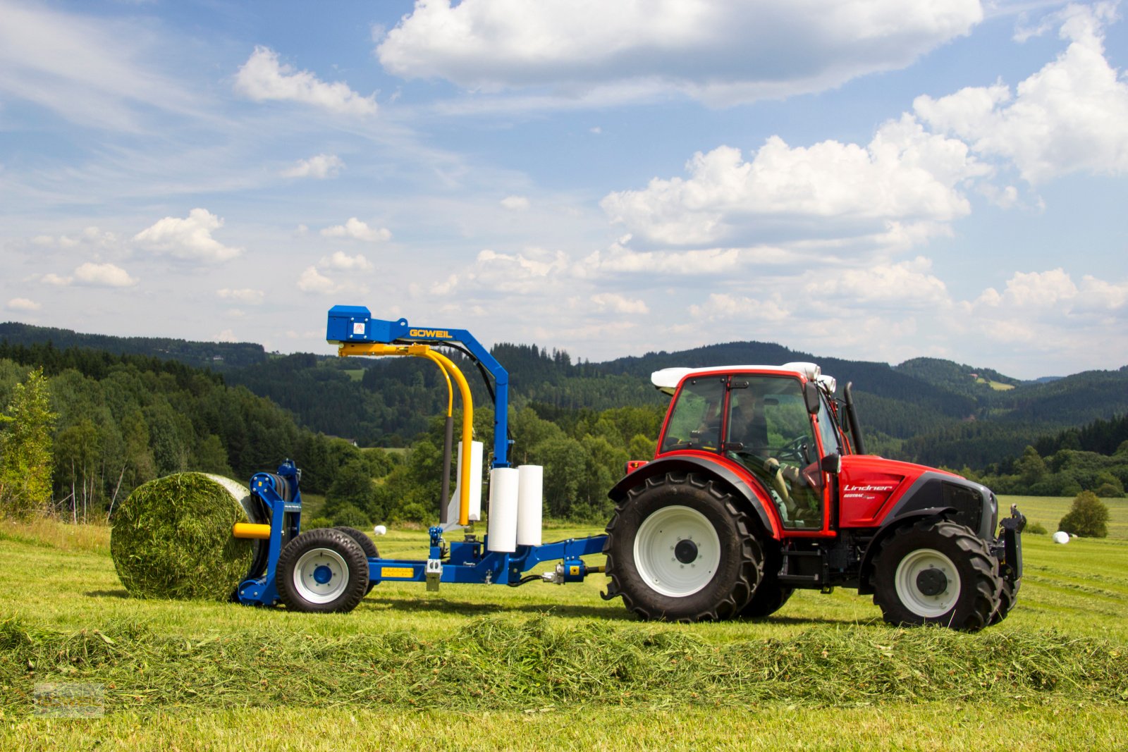
M 0 324 L 0 342 L 5 340 L 9 345 L 30 346 L 50 342 L 59 350 L 79 347 L 100 350 L 115 355 L 144 355 L 178 361 L 186 365 L 213 371 L 240 369 L 266 360 L 266 351 L 263 350 L 263 346 L 249 342 L 188 342 L 167 337 L 114 337 L 12 321 Z

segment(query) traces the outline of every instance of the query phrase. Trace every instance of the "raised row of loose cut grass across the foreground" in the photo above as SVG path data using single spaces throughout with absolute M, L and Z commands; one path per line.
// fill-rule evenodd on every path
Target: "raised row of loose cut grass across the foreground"
M 332 618 L 332 617 L 331 617 Z M 876 639 L 875 639 L 876 637 Z M 448 637 L 243 630 L 203 639 L 138 623 L 64 634 L 0 621 L 0 711 L 35 682 L 103 683 L 106 710 L 398 706 L 863 706 L 1068 697 L 1128 701 L 1128 651 L 1054 630 L 811 629 L 711 645 L 681 630 L 486 617 Z

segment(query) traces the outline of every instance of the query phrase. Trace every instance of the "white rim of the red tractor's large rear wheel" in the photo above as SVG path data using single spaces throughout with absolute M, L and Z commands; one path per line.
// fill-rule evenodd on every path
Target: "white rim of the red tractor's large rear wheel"
M 679 560 L 675 554 L 681 541 L 696 547 L 697 556 L 691 561 Z M 685 551 L 682 557 L 688 558 Z M 638 525 L 634 560 L 638 576 L 651 590 L 670 598 L 685 598 L 713 580 L 721 564 L 721 539 L 697 510 L 664 506 Z

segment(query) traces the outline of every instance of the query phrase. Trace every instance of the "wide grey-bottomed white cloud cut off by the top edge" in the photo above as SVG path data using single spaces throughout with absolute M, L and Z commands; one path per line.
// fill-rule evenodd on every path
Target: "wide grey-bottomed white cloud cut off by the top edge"
M 677 90 L 712 103 L 902 68 L 982 19 L 978 0 L 417 0 L 377 54 L 475 90 Z

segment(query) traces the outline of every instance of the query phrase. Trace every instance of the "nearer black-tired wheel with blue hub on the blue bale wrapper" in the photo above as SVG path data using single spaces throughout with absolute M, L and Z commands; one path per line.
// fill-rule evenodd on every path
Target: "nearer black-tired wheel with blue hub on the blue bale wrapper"
M 296 611 L 352 611 L 368 592 L 368 557 L 333 528 L 303 532 L 279 555 L 279 596 Z

